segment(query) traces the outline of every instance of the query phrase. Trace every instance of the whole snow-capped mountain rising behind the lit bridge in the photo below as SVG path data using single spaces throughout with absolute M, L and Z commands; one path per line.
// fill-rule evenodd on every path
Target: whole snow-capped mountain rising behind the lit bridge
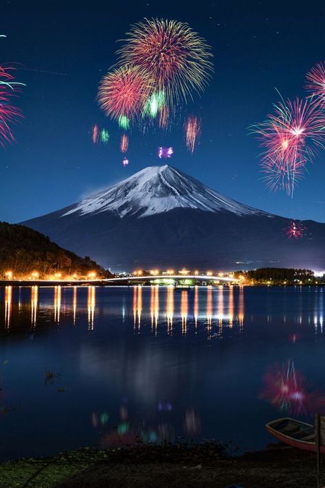
M 242 205 L 169 165 L 147 167 L 97 194 L 24 222 L 112 270 L 136 267 L 325 269 L 325 224 Z

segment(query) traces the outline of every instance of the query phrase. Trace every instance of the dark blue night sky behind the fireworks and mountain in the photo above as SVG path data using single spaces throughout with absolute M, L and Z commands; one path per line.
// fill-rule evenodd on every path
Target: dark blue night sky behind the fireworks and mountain
M 97 84 L 115 60 L 116 40 L 144 16 L 188 22 L 206 38 L 215 75 L 202 97 L 200 148 L 189 155 L 182 126 L 163 138 L 132 130 L 130 164 L 119 152 L 121 131 L 99 111 Z M 0 62 L 20 62 L 27 86 L 18 104 L 25 119 L 17 143 L 0 153 L 0 220 L 19 222 L 55 211 L 161 161 L 222 194 L 282 216 L 325 222 L 325 152 L 293 199 L 261 181 L 258 141 L 248 126 L 262 121 L 283 97 L 303 96 L 304 75 L 325 59 L 324 1 L 7 1 L 1 3 Z M 53 74 L 53 73 L 65 74 Z M 93 146 L 97 122 L 108 146 Z

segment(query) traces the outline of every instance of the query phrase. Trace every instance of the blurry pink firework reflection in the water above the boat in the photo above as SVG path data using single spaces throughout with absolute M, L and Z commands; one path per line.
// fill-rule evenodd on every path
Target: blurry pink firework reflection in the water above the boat
M 293 361 L 274 365 L 264 377 L 261 398 L 293 415 L 313 415 L 325 407 L 325 395 L 309 391 L 306 379 L 296 371 Z

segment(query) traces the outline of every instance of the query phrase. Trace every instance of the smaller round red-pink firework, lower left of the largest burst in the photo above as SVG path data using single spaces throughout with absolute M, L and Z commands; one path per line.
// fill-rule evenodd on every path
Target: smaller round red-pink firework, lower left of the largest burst
M 130 120 L 141 115 L 151 91 L 149 75 L 139 67 L 125 65 L 101 79 L 97 99 L 106 116 L 130 126 Z

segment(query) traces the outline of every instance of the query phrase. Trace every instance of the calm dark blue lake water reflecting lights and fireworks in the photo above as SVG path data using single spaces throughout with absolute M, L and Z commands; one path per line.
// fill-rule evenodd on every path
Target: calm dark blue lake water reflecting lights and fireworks
M 0 288 L 0 458 L 163 439 L 265 448 L 325 413 L 324 288 Z

